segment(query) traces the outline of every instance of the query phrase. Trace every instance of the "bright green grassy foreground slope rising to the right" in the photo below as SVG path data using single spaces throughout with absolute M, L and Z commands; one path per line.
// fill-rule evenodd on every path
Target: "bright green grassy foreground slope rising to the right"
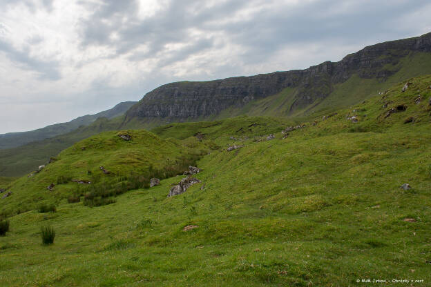
M 0 281 L 363 286 L 356 279 L 408 278 L 424 280 L 412 286 L 430 286 L 431 77 L 410 81 L 405 93 L 400 83 L 355 106 L 358 123 L 345 118 L 352 109 L 341 110 L 287 139 L 251 138 L 237 142 L 245 145 L 238 152 L 211 152 L 198 162 L 203 183 L 183 195 L 166 199 L 170 184 L 182 178 L 173 177 L 108 206 L 61 201 L 57 213 L 16 215 L 0 238 Z M 416 105 L 418 94 L 423 100 Z M 407 110 L 385 119 L 399 104 Z M 416 122 L 403 123 L 408 117 Z M 203 124 L 155 131 L 182 139 Z M 235 129 L 206 130 L 224 146 Z M 413 189 L 400 189 L 404 183 Z M 182 231 L 189 224 L 199 227 Z M 57 231 L 49 247 L 38 234 L 46 225 Z

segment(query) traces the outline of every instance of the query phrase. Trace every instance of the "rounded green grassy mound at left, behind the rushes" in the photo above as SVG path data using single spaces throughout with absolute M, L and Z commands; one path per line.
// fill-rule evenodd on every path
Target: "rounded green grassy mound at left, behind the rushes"
M 124 141 L 118 137 L 123 133 L 131 135 L 132 140 Z M 6 214 L 14 214 L 35 209 L 41 203 L 59 204 L 79 190 L 83 190 L 79 193 L 91 191 L 84 190 L 84 185 L 73 182 L 73 179 L 91 181 L 88 187 L 117 185 L 119 192 L 124 192 L 126 187 L 121 184 L 128 184 L 124 177 L 142 175 L 142 181 L 149 181 L 152 177 L 150 166 L 153 173 L 168 166 L 180 166 L 180 170 L 173 170 L 176 175 L 186 168 L 188 162 L 198 159 L 201 147 L 205 150 L 197 140 L 179 143 L 174 139 L 160 139 L 145 130 L 102 132 L 64 150 L 52 164 L 32 177 L 17 179 L 8 189 L 13 196 L 2 202 L 1 209 Z M 104 175 L 100 166 L 111 174 Z M 160 177 L 166 175 L 161 173 Z M 52 191 L 47 189 L 50 184 L 56 185 Z

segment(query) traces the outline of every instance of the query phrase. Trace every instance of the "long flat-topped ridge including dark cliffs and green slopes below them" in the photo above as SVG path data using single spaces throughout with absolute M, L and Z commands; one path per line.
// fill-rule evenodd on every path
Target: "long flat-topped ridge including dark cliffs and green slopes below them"
M 128 110 L 125 123 L 152 128 L 236 115 L 307 117 L 361 102 L 399 81 L 429 73 L 431 33 L 367 46 L 341 61 L 305 70 L 168 83 Z

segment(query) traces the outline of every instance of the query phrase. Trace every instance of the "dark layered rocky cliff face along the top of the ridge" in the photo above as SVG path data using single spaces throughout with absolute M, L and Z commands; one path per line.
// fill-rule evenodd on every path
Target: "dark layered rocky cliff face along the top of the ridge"
M 395 65 L 410 52 L 431 52 L 431 33 L 421 37 L 388 41 L 363 48 L 338 62 L 324 62 L 305 70 L 273 72 L 251 77 L 215 81 L 176 82 L 160 86 L 126 112 L 126 122 L 165 118 L 187 121 L 218 115 L 229 107 L 242 107 L 249 101 L 275 95 L 285 88 L 297 88 L 290 110 L 308 106 L 332 92 L 332 85 L 353 74 L 362 78 L 385 78 L 396 72 Z

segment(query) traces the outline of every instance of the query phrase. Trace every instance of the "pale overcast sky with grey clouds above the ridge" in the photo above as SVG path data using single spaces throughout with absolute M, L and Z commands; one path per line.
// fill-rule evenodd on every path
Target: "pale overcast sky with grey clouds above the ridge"
M 0 0 L 0 133 L 164 83 L 339 61 L 431 32 L 428 0 Z

